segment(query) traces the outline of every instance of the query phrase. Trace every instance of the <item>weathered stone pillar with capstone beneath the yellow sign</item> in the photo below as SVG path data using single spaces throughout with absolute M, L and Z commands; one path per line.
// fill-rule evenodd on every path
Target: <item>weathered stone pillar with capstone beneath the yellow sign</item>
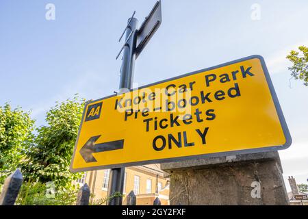
M 278 152 L 161 164 L 170 205 L 290 205 Z

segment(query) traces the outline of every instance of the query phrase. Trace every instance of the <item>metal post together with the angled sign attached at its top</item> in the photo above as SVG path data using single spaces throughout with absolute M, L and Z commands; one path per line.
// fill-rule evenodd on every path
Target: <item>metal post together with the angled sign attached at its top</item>
M 136 55 L 140 55 L 142 49 L 144 49 L 162 22 L 161 2 L 157 1 L 153 10 L 149 16 L 146 17 L 146 20 L 142 24 L 139 31 L 137 29 L 138 19 L 133 17 L 135 14 L 136 12 L 133 12 L 133 15 L 131 18 L 129 18 L 127 27 L 120 37 L 121 40 L 126 32 L 125 44 L 123 45 L 122 49 L 120 49 L 120 53 L 122 53 L 122 51 L 124 51 L 124 53 L 123 62 L 120 69 L 119 94 L 126 92 L 133 87 L 133 72 L 135 68 L 135 60 L 137 58 Z M 138 45 L 137 41 L 139 41 Z M 120 53 L 118 53 L 116 59 L 118 59 Z M 113 168 L 111 170 L 108 186 L 108 197 L 113 196 L 115 192 L 120 192 L 121 194 L 123 193 L 124 178 L 125 168 Z M 122 197 L 110 199 L 108 205 L 122 205 Z

